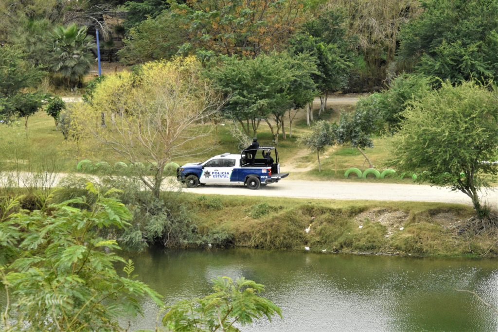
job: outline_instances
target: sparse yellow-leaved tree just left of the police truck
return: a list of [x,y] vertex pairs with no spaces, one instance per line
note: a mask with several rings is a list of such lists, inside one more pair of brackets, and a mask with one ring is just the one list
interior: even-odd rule
[[[79,128],[133,164],[147,162],[139,177],[159,198],[164,167],[175,158],[205,152],[212,126],[200,125],[218,111],[220,96],[202,76],[195,57],[142,65],[134,73],[108,75],[93,94],[92,106],[81,105]],[[102,113],[108,119],[101,125]],[[83,114],[83,115],[81,115]]]

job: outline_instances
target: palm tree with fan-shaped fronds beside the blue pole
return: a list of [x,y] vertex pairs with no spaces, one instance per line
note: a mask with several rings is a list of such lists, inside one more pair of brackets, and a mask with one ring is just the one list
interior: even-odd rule
[[94,39],[87,35],[86,26],[58,26],[48,38],[47,51],[51,54],[49,70],[54,75],[62,76],[68,87],[78,86],[95,61],[92,53],[95,47]]

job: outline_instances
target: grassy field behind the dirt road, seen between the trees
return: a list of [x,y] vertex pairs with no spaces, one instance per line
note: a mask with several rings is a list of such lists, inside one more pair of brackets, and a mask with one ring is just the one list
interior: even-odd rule
[[[315,120],[326,119],[337,121],[341,111],[354,111],[354,106],[337,105],[328,110],[322,116],[318,116],[315,110]],[[19,120],[10,125],[0,125],[0,169],[15,170],[50,170],[60,172],[75,172],[76,164],[82,159],[90,159],[93,162],[106,161],[114,164],[124,161],[114,151],[107,149],[97,141],[87,141],[75,144],[64,140],[60,131],[57,131],[53,119],[39,111],[29,118],[28,131],[24,130],[23,121]],[[237,153],[238,143],[232,137],[229,126],[231,123],[220,123],[213,130],[217,144],[209,152],[190,158],[174,160],[182,164],[192,161],[204,161],[207,158],[224,152]],[[350,167],[358,167],[361,170],[368,168],[365,158],[360,152],[350,146],[330,147],[322,156],[322,172],[318,172],[316,152],[308,150],[297,144],[297,138],[310,128],[306,125],[304,112],[298,115],[293,123],[293,136],[289,137],[287,124],[287,139],[280,137],[278,152],[282,171],[290,172],[294,179],[315,180],[346,180],[344,172]],[[26,137],[27,136],[27,137]],[[266,123],[261,122],[258,131],[260,144],[273,145],[272,136]],[[203,142],[201,142],[203,144]],[[205,142],[211,145],[211,142]],[[389,155],[388,138],[375,138],[374,148],[365,149],[374,166],[382,171],[384,163]],[[390,178],[384,180],[376,179],[349,179],[348,181],[384,181],[384,182],[411,182],[409,179],[400,180]]]

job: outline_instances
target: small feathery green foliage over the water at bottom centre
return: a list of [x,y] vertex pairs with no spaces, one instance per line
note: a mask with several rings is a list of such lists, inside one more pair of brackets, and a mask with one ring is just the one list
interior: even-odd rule
[[244,277],[235,282],[229,277],[213,280],[214,293],[184,300],[170,307],[162,322],[170,331],[239,331],[234,325],[249,325],[253,320],[278,315],[280,308],[259,296],[264,286]]

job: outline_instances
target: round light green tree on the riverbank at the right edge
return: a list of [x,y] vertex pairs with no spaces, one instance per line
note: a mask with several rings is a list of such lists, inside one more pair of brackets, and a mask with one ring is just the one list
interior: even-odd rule
[[498,103],[496,88],[476,82],[441,89],[413,101],[402,116],[392,164],[417,173],[418,182],[449,187],[472,199],[477,229],[496,227],[478,192],[498,174]]

